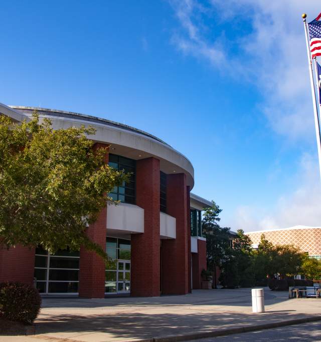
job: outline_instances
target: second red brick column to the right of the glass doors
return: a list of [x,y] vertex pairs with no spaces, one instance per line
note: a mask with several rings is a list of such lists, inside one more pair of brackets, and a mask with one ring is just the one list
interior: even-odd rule
[[176,218],[176,239],[162,241],[162,293],[189,291],[188,213],[185,174],[168,175],[167,213]]

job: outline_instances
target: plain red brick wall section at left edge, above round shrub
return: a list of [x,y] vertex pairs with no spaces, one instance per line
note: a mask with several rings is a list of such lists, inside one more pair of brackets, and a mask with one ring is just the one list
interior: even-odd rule
[[33,285],[34,271],[35,248],[0,246],[0,282],[19,281]]

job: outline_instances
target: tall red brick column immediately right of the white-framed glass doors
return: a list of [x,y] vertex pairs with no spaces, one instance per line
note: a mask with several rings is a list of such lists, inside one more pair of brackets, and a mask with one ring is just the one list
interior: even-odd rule
[[159,160],[136,162],[136,204],[144,209],[144,232],[131,234],[130,293],[160,294]]

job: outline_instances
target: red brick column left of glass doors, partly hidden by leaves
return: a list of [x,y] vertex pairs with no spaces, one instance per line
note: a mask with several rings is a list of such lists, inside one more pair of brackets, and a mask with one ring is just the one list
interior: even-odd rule
[[[108,145],[96,143],[94,149],[106,148],[105,163],[108,163]],[[90,224],[86,233],[88,237],[106,248],[107,207],[103,208],[97,221]],[[83,298],[104,298],[105,296],[105,262],[95,252],[80,248],[79,260],[79,296]]]

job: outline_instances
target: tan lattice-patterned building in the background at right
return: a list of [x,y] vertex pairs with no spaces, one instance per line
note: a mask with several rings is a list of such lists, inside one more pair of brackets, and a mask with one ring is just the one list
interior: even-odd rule
[[257,247],[261,235],[273,244],[294,244],[309,256],[321,259],[321,227],[294,226],[285,229],[268,229],[246,233]]

